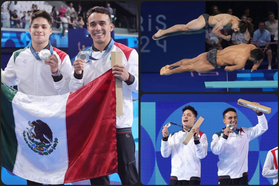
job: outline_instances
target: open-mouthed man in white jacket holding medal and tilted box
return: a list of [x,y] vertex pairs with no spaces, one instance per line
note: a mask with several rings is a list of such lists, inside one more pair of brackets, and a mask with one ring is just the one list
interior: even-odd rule
[[207,155],[207,138],[199,131],[199,128],[193,128],[193,138],[186,146],[182,144],[194,126],[197,116],[197,111],[191,106],[184,107],[182,111],[184,126],[181,131],[170,134],[168,137],[168,128],[164,126],[161,154],[164,158],[172,155],[170,185],[198,185],[200,184],[200,159]]

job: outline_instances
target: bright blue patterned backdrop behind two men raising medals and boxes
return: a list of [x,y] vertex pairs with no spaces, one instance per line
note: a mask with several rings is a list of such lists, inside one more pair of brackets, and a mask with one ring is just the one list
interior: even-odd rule
[[[221,131],[223,111],[232,107],[238,114],[238,128],[253,127],[258,123],[256,113],[237,104],[237,100],[256,101],[271,107],[271,113],[265,114],[268,131],[252,140],[249,144],[248,179],[249,184],[271,184],[271,178],[262,176],[262,167],[269,150],[278,146],[278,98],[276,95],[143,95],[141,97],[141,182],[143,184],[169,184],[171,156],[161,155],[162,129],[167,122],[181,123],[182,108],[193,106],[198,116],[205,120],[200,131],[207,135],[208,155],[201,160],[201,184],[218,184],[218,156],[210,149],[211,137]],[[181,128],[172,125],[169,132]],[[274,131],[274,132],[273,132]]]

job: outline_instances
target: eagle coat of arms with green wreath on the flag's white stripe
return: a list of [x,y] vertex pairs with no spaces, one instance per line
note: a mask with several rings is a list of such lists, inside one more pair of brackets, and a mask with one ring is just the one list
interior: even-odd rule
[[[29,129],[26,127],[28,131],[23,131],[22,133],[26,144],[32,151],[39,155],[50,155],[53,150],[55,150],[58,139],[54,138],[54,142],[52,143],[52,131],[49,126],[39,119],[32,123],[29,121],[28,125],[32,128]],[[27,138],[25,134],[27,135]]]

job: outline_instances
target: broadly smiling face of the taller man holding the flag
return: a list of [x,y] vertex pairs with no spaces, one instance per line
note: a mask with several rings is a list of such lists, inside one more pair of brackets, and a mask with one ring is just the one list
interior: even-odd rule
[[95,44],[108,44],[113,27],[107,14],[94,12],[88,17],[87,30]]

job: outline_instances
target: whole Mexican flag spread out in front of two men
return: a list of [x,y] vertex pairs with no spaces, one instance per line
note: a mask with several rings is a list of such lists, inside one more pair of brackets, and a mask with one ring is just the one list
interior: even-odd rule
[[116,173],[112,70],[77,91],[46,97],[1,82],[1,165],[44,184]]

